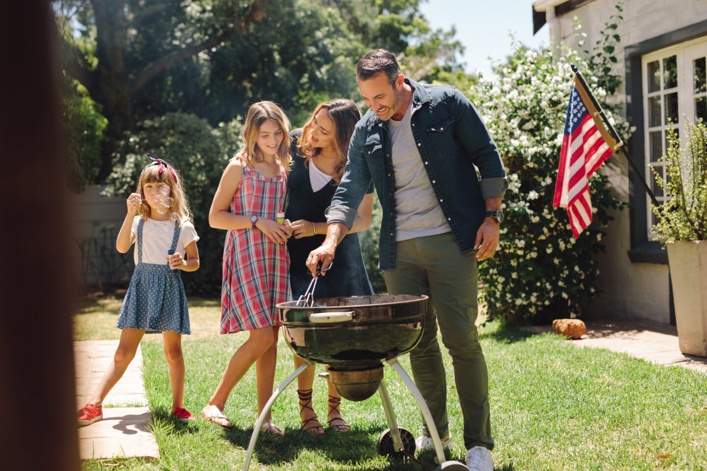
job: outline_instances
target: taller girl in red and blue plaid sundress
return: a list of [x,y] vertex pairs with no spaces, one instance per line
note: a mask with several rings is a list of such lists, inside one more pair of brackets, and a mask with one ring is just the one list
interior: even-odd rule
[[[283,210],[290,123],[273,102],[258,102],[248,109],[243,128],[245,146],[223,171],[209,224],[228,229],[223,249],[221,333],[249,330],[250,335],[231,357],[204,419],[226,429],[223,415],[230,391],[255,362],[258,413],[272,395],[277,358],[278,312],[275,305],[291,299],[288,255],[284,243],[292,229],[276,221]],[[230,208],[230,212],[229,212]],[[272,417],[262,429],[282,435]]]

